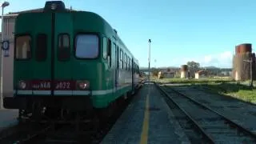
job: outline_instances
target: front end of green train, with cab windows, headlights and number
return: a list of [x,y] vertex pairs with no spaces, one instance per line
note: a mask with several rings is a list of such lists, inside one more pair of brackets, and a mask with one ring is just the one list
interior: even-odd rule
[[37,118],[94,109],[92,91],[103,88],[100,35],[97,27],[81,32],[76,15],[58,1],[46,2],[43,12],[18,15],[14,97],[4,99],[7,109]]

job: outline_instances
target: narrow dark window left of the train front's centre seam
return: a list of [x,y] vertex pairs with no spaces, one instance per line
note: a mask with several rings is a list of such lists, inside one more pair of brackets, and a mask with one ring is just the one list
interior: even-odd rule
[[38,34],[37,47],[35,50],[35,59],[39,62],[45,61],[47,56],[47,36]]

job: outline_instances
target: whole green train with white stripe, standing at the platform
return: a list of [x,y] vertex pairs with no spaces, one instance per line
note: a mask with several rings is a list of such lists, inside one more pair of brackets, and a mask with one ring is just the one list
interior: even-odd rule
[[4,106],[20,115],[107,109],[140,86],[138,60],[98,14],[46,2],[19,14],[14,34],[14,96]]

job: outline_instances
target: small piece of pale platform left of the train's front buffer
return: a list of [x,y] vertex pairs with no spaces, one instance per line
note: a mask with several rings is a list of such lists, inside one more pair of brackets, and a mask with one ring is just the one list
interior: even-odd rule
[[0,110],[0,131],[18,124],[18,110]]

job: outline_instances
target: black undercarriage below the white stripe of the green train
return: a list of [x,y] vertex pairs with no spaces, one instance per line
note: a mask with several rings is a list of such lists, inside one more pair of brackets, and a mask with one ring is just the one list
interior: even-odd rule
[[[130,93],[128,93],[130,95]],[[46,97],[31,96],[5,99],[12,102],[12,109],[19,110],[18,122],[54,122],[54,123],[104,123],[126,101],[119,97],[106,108],[94,108],[90,97]],[[10,105],[9,105],[10,106]],[[5,106],[8,108],[9,106]]]

